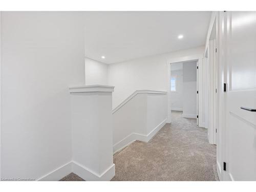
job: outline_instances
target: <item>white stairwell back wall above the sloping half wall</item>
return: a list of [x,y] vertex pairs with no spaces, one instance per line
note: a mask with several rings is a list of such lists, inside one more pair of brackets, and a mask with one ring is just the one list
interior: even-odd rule
[[166,63],[162,55],[109,66],[109,85],[115,86],[113,109],[136,90],[166,90]]

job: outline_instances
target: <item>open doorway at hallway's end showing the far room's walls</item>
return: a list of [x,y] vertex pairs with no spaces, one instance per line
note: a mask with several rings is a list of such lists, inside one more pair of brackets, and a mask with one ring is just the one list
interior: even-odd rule
[[171,110],[198,125],[198,60],[171,63],[170,71]]

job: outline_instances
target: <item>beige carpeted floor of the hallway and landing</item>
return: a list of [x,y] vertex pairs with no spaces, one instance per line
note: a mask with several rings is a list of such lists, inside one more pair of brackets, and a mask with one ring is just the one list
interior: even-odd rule
[[[166,124],[148,143],[135,141],[114,156],[112,181],[216,181],[216,145],[196,119],[172,111]],[[70,174],[62,181],[80,181]]]

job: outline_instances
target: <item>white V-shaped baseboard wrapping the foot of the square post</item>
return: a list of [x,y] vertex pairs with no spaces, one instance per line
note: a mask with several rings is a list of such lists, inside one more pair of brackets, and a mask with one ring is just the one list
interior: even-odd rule
[[110,181],[115,176],[115,164],[112,164],[101,175],[75,161],[72,162],[72,170],[74,174],[86,181]]

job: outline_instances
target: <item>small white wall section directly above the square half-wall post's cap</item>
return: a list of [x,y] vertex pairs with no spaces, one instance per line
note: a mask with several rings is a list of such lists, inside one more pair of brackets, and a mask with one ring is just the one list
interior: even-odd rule
[[87,86],[94,84],[108,84],[108,65],[90,58],[85,58],[84,63],[86,66]]

